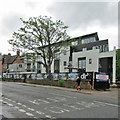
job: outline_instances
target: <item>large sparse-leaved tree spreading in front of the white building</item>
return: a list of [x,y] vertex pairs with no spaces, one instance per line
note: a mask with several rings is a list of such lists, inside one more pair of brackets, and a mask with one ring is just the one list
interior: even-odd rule
[[68,26],[61,20],[54,22],[47,16],[31,17],[27,21],[21,21],[23,27],[14,32],[8,42],[13,46],[13,50],[28,50],[40,55],[40,63],[49,73],[55,52],[69,39],[66,32]]

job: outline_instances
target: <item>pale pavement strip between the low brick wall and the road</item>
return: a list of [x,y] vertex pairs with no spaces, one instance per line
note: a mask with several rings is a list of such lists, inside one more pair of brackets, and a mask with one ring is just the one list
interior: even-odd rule
[[[120,96],[118,94],[118,93],[120,93],[120,89],[117,88],[117,87],[113,87],[113,86],[111,86],[110,89],[106,89],[106,90],[95,90],[95,89],[94,90],[87,90],[87,89],[76,90],[76,89],[73,89],[73,88],[65,88],[65,87],[58,87],[58,86],[37,85],[37,84],[18,83],[18,82],[13,82],[13,83],[23,85],[23,86],[53,88],[53,89],[62,90],[62,91],[69,91],[69,92],[76,92],[76,93],[81,93],[81,94],[107,97],[107,98],[116,99],[116,100],[120,99]],[[3,96],[2,93],[0,93],[0,96]]]

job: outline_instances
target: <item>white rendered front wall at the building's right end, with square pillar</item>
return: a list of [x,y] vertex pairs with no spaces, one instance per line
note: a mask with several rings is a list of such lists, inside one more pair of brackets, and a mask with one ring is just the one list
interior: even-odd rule
[[[78,59],[86,58],[86,72],[99,72],[99,59],[100,58],[109,58],[113,59],[113,76],[112,82],[115,83],[116,79],[116,49],[110,52],[99,53],[99,49],[84,51],[84,52],[76,52],[73,53],[73,61],[72,65],[74,67],[78,67]],[[89,60],[92,60],[91,64],[89,64]],[[73,72],[77,72],[77,70],[73,70]]]

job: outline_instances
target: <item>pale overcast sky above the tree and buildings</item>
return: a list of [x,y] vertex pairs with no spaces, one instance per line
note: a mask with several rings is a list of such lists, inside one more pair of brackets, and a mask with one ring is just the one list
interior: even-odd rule
[[8,54],[12,38],[23,24],[20,18],[52,17],[68,25],[68,35],[78,37],[97,32],[100,40],[109,40],[109,49],[118,48],[117,0],[3,0],[0,3],[0,53]]

